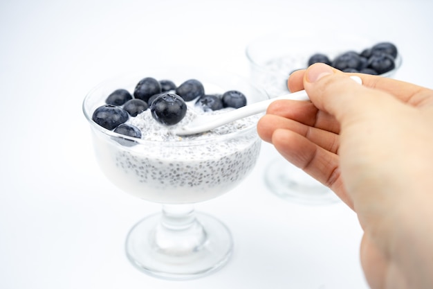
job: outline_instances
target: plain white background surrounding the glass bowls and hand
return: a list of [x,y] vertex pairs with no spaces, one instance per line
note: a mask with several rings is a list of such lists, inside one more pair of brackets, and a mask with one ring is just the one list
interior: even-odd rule
[[277,154],[266,143],[246,182],[196,205],[230,227],[230,263],[192,281],[139,272],[125,236],[160,206],[102,175],[82,99],[138,67],[248,76],[244,50],[255,37],[318,29],[395,42],[396,78],[433,87],[432,11],[427,0],[1,1],[0,288],[367,288],[356,215],[273,195],[263,175]]

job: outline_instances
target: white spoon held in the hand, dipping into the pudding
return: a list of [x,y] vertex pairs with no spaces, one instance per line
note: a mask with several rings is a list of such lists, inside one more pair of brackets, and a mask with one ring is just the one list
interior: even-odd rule
[[[358,76],[351,76],[351,78],[359,84],[362,84],[362,80]],[[270,103],[281,99],[310,100],[306,91],[300,90],[284,96],[277,96],[268,100],[259,101],[258,103],[239,107],[237,110],[231,110],[230,112],[225,112],[223,114],[198,114],[190,123],[174,130],[174,133],[177,135],[189,135],[198,134],[199,132],[207,132],[208,130],[212,130],[212,128],[218,128],[221,125],[231,123],[237,119],[243,119],[247,116],[265,112]]]

